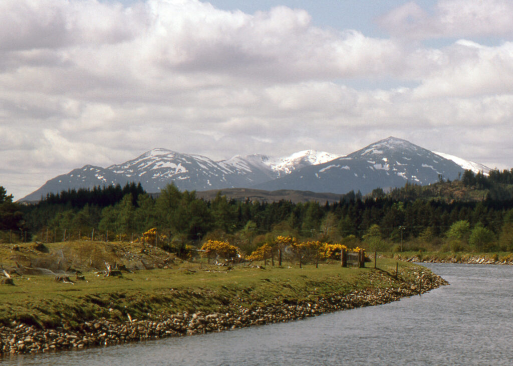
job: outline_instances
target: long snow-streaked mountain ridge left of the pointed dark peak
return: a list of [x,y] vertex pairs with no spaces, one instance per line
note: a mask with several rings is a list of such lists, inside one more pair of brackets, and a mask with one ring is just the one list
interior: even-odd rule
[[148,192],[159,192],[171,182],[182,190],[249,188],[308,164],[325,161],[329,156],[327,152],[307,150],[280,159],[255,154],[215,162],[201,155],[156,148],[107,168],[86,165],[73,169],[68,174],[49,180],[22,201],[36,201],[50,192],[71,188],[125,185],[128,182],[140,182]]

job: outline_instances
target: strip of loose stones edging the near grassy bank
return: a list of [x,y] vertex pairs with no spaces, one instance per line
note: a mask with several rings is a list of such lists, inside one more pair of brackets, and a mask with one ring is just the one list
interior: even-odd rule
[[[156,315],[151,320],[131,319],[120,323],[105,318],[88,321],[71,329],[40,329],[13,321],[0,327],[0,355],[35,354],[58,350],[84,349],[125,342],[221,332],[253,325],[285,322],[397,301],[448,284],[427,271],[415,272],[415,281],[393,281],[390,275],[374,272],[372,276],[388,281],[386,288],[369,288],[348,294],[332,294],[308,301],[283,301],[280,304],[254,306],[228,305],[219,313],[178,313]],[[374,277],[375,279],[378,279]],[[372,282],[372,281],[371,281]],[[419,291],[419,284],[421,285]]]

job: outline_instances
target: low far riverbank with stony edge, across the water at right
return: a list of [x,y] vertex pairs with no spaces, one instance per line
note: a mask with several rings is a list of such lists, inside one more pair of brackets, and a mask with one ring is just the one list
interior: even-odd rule
[[403,252],[383,253],[382,257],[416,263],[462,263],[462,264],[506,264],[513,265],[513,253],[439,253]]

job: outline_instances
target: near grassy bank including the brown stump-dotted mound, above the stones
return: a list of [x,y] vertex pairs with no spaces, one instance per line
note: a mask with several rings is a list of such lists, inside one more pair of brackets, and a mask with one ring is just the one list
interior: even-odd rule
[[[3,304],[0,323],[7,325],[18,320],[41,328],[63,324],[74,327],[100,317],[117,321],[125,321],[128,315],[151,319],[156,314],[213,312],[234,305],[251,308],[307,301],[370,287],[399,286],[402,282],[413,281],[420,269],[401,263],[399,281],[396,281],[391,276],[395,273],[396,261],[389,259],[378,262],[379,271],[341,268],[338,263],[321,264],[319,268],[314,265],[298,268],[291,263],[280,268],[267,265],[262,269],[254,265],[257,263],[227,268],[182,261],[160,249],[140,244],[55,243],[47,246],[47,253],[36,251],[34,246],[26,244],[12,249],[4,245],[0,248],[4,267],[25,266],[25,273],[29,272],[21,277],[13,275],[14,286],[0,286]],[[137,270],[137,265],[142,266],[141,256],[145,265],[154,269]],[[49,269],[58,272],[55,258],[61,267],[66,260],[66,268],[87,271],[83,272],[85,281],[70,276],[73,284],[56,282],[55,276],[31,275],[32,269],[27,269],[40,268],[27,267],[29,263],[53,263]],[[106,261],[122,264],[132,271],[104,277],[97,272],[105,269]],[[97,268],[87,265],[94,265],[94,262]],[[387,276],[376,276],[377,272]]]

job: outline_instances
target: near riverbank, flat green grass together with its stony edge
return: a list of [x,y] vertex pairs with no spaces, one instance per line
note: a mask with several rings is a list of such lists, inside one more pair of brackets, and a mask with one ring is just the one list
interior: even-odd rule
[[[190,264],[85,274],[57,283],[44,276],[0,287],[0,353],[40,353],[220,332],[378,305],[446,284],[428,269],[379,261],[379,269],[225,267]],[[420,280],[422,280],[420,282]],[[14,319],[14,320],[13,320]]]

